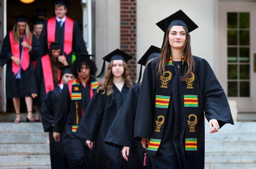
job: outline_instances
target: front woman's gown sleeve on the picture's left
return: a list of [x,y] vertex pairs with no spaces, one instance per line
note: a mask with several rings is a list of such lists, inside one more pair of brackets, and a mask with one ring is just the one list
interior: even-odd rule
[[155,112],[156,62],[157,59],[154,59],[147,65],[141,83],[134,125],[134,138],[137,141],[141,141],[141,137],[150,138],[152,134],[152,120]]

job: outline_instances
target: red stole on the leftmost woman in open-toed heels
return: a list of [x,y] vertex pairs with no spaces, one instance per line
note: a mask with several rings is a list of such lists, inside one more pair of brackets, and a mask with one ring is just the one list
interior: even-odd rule
[[[30,33],[30,46],[32,44],[32,33]],[[14,40],[13,40],[13,32],[10,31],[9,33],[9,36],[10,36],[10,44],[11,44],[11,53],[13,54],[13,56],[15,58],[19,58],[20,59],[20,44],[19,43],[16,43]],[[26,37],[26,34],[24,35],[24,42],[27,42],[27,37]],[[27,47],[24,47],[23,49],[23,55],[22,55],[22,61],[21,61],[21,67],[22,69],[25,71],[26,69],[28,69],[29,67],[29,60],[30,60],[30,56],[29,56],[29,53],[28,53],[28,48]],[[17,73],[19,72],[19,69],[20,69],[20,66],[16,65],[14,62],[13,62],[13,67],[12,67],[12,71],[15,75],[17,75]]]

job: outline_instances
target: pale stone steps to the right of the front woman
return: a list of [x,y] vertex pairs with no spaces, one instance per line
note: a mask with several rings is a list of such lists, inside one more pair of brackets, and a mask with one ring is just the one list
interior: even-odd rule
[[205,124],[204,169],[256,169],[256,122],[226,124],[209,133]]

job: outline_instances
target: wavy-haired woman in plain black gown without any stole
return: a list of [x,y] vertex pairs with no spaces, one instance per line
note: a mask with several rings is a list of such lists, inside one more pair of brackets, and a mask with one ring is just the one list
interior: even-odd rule
[[93,147],[93,142],[98,145],[98,169],[129,167],[129,163],[122,158],[121,150],[105,144],[104,139],[130,87],[133,85],[125,64],[131,58],[132,56],[119,49],[103,58],[102,72],[98,77],[104,75],[105,60],[109,62],[106,76],[87,106],[85,115],[76,131],[78,136],[87,139],[86,143],[89,148],[96,148]]

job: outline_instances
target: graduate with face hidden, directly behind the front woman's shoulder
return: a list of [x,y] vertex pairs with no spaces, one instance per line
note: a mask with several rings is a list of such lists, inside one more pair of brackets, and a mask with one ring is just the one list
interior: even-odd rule
[[[146,66],[148,62],[158,57],[160,48],[150,46],[147,52],[139,60],[138,64]],[[109,128],[108,134],[104,142],[113,147],[122,149],[122,156],[126,161],[128,158],[131,163],[132,169],[151,169],[150,157],[146,157],[145,149],[141,146],[141,143],[134,140],[134,121],[137,111],[137,104],[139,99],[139,91],[141,89],[141,71],[139,74],[138,84],[133,85],[124,103],[117,113],[115,120]],[[129,153],[129,150],[131,151]],[[145,160],[145,161],[144,161]]]

